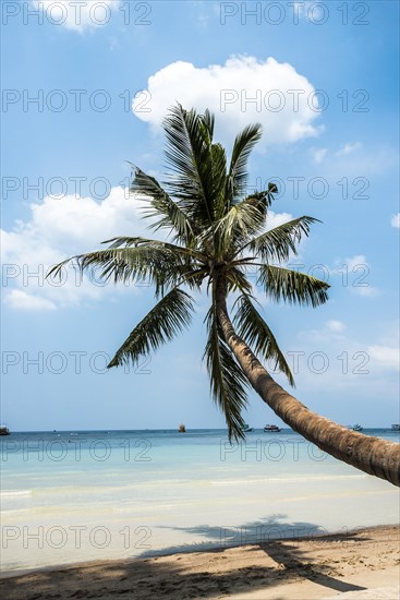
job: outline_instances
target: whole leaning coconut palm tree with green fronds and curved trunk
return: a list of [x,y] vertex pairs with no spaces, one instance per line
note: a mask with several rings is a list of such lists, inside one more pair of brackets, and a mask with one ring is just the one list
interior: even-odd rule
[[[277,301],[318,307],[327,301],[329,287],[282,266],[316,219],[302,216],[266,230],[276,185],[269,183],[267,190],[243,197],[247,159],[260,139],[260,125],[249,125],[237,136],[229,166],[223,147],[213,142],[214,116],[208,110],[197,115],[177,105],[163,129],[170,168],[167,181],[161,187],[134,167],[131,192],[146,201],[149,228],[167,230],[169,241],[119,237],[104,242],[109,243],[106,250],[69,259],[82,273],[100,268],[105,280],[145,279],[155,286],[156,305],[108,367],[136,363],[173,338],[191,321],[193,298],[189,291],[199,291],[206,284],[210,308],[205,319],[208,339],[204,357],[229,439],[244,436],[242,411],[250,384],[288,425],[320,449],[400,485],[400,444],[350,431],[311,411],[278,385],[260,362],[272,360],[294,384],[284,356],[255,305],[249,269],[257,271],[257,285]],[[52,267],[50,274],[60,273],[66,262]],[[235,297],[233,320],[227,308],[231,295]]]

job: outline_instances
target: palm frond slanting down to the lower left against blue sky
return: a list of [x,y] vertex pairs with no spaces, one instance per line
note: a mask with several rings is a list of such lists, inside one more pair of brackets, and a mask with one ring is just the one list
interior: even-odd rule
[[186,327],[192,311],[193,300],[189,293],[173,288],[136,325],[108,367],[119,367],[130,361],[137,363],[140,357],[157,350]]

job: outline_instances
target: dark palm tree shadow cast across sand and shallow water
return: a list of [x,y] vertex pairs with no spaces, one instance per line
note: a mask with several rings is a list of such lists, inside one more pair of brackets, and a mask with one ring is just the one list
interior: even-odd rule
[[[288,525],[279,520],[282,517],[276,515],[243,524],[239,528],[221,529],[206,525],[175,528],[207,539],[205,544],[208,548],[197,555],[195,563],[189,554],[181,554],[173,560],[168,555],[187,550],[203,551],[205,544],[171,547],[162,553],[148,551],[133,560],[36,571],[1,580],[0,593],[3,599],[10,600],[121,597],[130,600],[186,600],[259,591],[262,599],[263,590],[300,579],[318,584],[326,596],[336,591],[366,589],[339,579],[340,571],[329,560],[332,547],[336,550],[343,548],[346,554],[349,543],[352,548],[357,543],[367,543],[365,535],[360,537],[355,532],[322,537],[325,531],[318,526],[310,523]],[[301,543],[301,537],[307,538],[306,548]],[[214,540],[213,548],[209,540]],[[242,544],[252,544],[246,547],[244,560],[243,549],[235,550],[235,547]],[[278,599],[278,596],[275,598]]]

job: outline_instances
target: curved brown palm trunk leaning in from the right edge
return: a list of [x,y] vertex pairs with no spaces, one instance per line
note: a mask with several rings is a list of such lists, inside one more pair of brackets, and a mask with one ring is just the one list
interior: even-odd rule
[[226,302],[226,281],[216,283],[216,310],[225,339],[263,400],[294,431],[352,467],[400,485],[400,444],[349,430],[310,410],[278,385],[234,332]]

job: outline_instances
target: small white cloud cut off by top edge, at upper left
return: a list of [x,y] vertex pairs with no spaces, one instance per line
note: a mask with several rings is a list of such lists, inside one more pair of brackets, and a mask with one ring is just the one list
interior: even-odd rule
[[32,4],[45,13],[48,23],[82,32],[107,25],[121,0],[32,0]]

